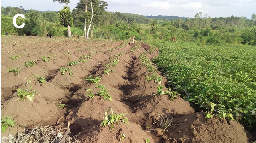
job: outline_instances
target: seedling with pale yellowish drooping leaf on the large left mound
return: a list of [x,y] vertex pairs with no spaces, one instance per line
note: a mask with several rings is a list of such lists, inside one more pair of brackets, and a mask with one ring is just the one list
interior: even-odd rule
[[27,98],[28,100],[33,102],[33,98],[34,98],[36,92],[38,92],[38,91],[36,91],[36,90],[33,91],[31,88],[32,88],[32,86],[30,86],[29,89],[16,89],[17,96],[19,96],[19,99],[17,99],[17,100],[25,101]]

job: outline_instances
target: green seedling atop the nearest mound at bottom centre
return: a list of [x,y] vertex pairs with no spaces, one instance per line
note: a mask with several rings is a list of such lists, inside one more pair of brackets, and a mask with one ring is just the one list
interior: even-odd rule
[[[109,111],[111,111],[111,114],[108,114]],[[128,119],[127,117],[122,118],[122,116],[126,116],[124,113],[121,114],[113,114],[113,110],[111,109],[107,109],[105,112],[105,117],[104,120],[101,122],[100,126],[101,127],[106,127],[107,125],[112,124],[111,129],[114,128],[114,123],[118,123],[119,121],[122,121],[124,123],[126,123],[127,125],[129,125]]]

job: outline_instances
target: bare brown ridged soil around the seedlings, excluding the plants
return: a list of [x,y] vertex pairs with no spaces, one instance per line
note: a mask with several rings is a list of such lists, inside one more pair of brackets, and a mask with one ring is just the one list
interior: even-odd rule
[[[124,134],[125,143],[248,143],[250,133],[235,121],[219,121],[205,119],[203,112],[195,113],[189,102],[178,97],[174,101],[167,95],[154,95],[158,83],[146,82],[148,74],[140,65],[139,54],[149,50],[149,45],[141,43],[141,48],[130,52],[134,45],[127,44],[116,48],[123,42],[111,43],[109,40],[87,40],[67,38],[44,38],[33,36],[10,36],[1,39],[1,113],[2,116],[12,116],[17,124],[2,133],[2,136],[23,131],[23,125],[33,128],[37,125],[57,125],[71,122],[70,136],[75,136],[81,143],[117,143]],[[91,48],[90,47],[96,47]],[[79,50],[80,49],[80,50]],[[113,52],[111,52],[111,49]],[[82,55],[90,52],[91,59],[86,63],[70,66],[73,77],[68,71],[65,75],[58,72],[70,61],[77,61]],[[110,62],[110,56],[122,52],[115,71],[104,74],[104,65]],[[49,62],[43,62],[42,56],[51,55]],[[21,55],[10,60],[10,56]],[[57,56],[55,60],[54,55]],[[148,54],[149,58],[156,53]],[[36,61],[36,66],[23,67],[28,60]],[[23,67],[15,75],[7,72],[12,67]],[[46,78],[45,83],[39,83],[32,75]],[[85,81],[85,77],[100,76],[98,84]],[[157,73],[161,76],[161,73]],[[31,83],[26,85],[29,80]],[[99,96],[89,98],[86,89],[97,92],[95,85],[104,85],[113,101],[104,100]],[[162,85],[167,85],[165,77]],[[15,89],[37,90],[33,102],[18,100]],[[166,89],[166,88],[165,88]],[[164,89],[164,90],[165,90]],[[67,107],[57,107],[64,103]],[[112,108],[115,113],[125,113],[129,125],[120,122],[110,126],[100,127],[106,109]],[[158,123],[163,119],[172,119],[171,127],[163,132]],[[150,125],[150,128],[148,128]],[[146,128],[146,126],[148,126]],[[158,128],[157,128],[158,127]],[[12,130],[12,131],[11,131]]]

